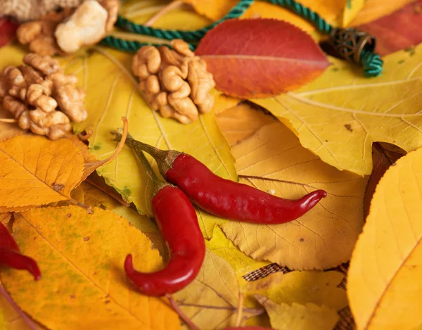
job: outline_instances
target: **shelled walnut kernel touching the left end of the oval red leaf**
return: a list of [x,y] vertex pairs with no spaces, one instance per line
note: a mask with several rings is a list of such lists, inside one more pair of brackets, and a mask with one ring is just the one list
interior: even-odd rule
[[186,42],[175,39],[171,45],[173,50],[167,46],[141,47],[132,70],[153,110],[188,124],[198,120],[198,113],[212,109],[210,90],[215,82],[205,61],[195,56]]

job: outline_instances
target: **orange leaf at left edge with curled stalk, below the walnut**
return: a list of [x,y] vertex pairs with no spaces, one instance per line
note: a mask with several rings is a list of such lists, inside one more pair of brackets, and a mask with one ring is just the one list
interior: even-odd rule
[[97,161],[75,137],[51,141],[26,134],[1,141],[0,212],[72,201],[70,191],[96,168],[113,160],[122,147],[120,144],[110,158]]

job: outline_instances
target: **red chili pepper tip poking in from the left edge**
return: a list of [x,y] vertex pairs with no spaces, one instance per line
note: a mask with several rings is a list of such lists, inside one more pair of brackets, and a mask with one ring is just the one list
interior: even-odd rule
[[15,269],[26,269],[33,276],[35,281],[41,279],[41,272],[37,262],[20,254],[18,244],[8,232],[4,224],[0,222],[0,265],[12,267]]

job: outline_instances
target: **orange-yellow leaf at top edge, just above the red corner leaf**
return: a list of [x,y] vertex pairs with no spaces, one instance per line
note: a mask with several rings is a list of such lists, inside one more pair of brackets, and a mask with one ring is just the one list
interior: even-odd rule
[[414,2],[414,0],[366,0],[357,16],[350,22],[350,26],[357,26],[377,20],[397,11],[399,8]]

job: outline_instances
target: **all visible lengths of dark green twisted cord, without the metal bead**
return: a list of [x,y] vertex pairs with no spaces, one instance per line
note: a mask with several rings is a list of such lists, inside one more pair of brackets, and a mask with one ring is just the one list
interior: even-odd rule
[[[226,16],[224,16],[224,18],[222,18],[221,20],[217,20],[211,25],[207,25],[202,29],[194,31],[155,29],[153,27],[146,27],[133,23],[130,20],[127,20],[126,18],[122,18],[122,16],[120,15],[117,17],[117,22],[115,25],[129,32],[145,34],[160,39],[183,39],[185,42],[199,42],[200,39],[202,39],[208,31],[210,31],[212,28],[219,25],[220,23],[224,22],[224,20],[228,20],[230,18],[238,18],[243,15],[243,13],[249,8],[253,1],[254,0],[239,1],[238,4],[234,8],[232,8]],[[318,15],[311,9],[302,6],[294,0],[265,1],[271,4],[275,4],[277,6],[286,7],[291,11],[294,11],[302,18],[305,18],[309,22],[313,23],[319,31],[325,34],[330,34],[331,30],[333,30],[333,27],[328,22],[326,22],[324,18],[321,18],[320,15]],[[120,51],[137,51],[139,48],[141,48],[141,46],[149,45],[148,43],[118,39],[111,36],[108,36],[101,40],[101,44],[111,46],[115,49],[119,49]],[[153,46],[158,45],[153,44]],[[189,48],[194,51],[196,49],[196,46],[193,46],[193,44],[189,44]],[[359,58],[359,63],[364,69],[365,77],[376,77],[378,75],[381,75],[381,73],[383,72],[383,61],[381,60],[381,56],[376,53],[373,53],[372,51],[369,51],[368,49],[364,49],[362,51],[361,56]]]

